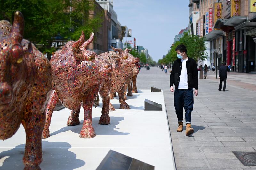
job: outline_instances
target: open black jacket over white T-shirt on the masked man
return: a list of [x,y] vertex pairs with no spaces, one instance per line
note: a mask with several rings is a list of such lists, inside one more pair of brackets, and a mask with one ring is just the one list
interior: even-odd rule
[[[192,58],[188,58],[186,61],[187,66],[187,74],[188,74],[188,89],[195,90],[198,89],[198,71],[197,71],[197,64],[196,61]],[[182,62],[181,59],[177,59],[174,61],[172,65],[172,71],[170,75],[170,86],[175,85],[175,88],[178,88],[180,82],[180,74],[182,69]]]

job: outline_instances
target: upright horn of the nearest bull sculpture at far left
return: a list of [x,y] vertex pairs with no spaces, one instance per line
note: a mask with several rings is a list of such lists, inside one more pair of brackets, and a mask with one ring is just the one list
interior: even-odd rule
[[9,36],[21,43],[24,35],[24,17],[20,11],[16,11],[12,30]]

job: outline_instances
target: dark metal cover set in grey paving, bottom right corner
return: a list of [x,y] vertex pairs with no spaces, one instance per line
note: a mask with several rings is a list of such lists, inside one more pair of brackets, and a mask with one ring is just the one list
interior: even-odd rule
[[247,166],[256,165],[256,152],[233,152],[236,157]]

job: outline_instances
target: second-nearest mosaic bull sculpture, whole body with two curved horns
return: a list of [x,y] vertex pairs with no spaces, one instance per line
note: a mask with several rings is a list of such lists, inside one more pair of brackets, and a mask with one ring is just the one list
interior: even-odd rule
[[[93,41],[93,35],[92,33],[91,37],[85,41],[84,32],[82,32],[78,41],[69,41],[52,56],[50,61],[52,94],[47,104],[43,138],[50,136],[49,126],[52,112],[59,99],[66,108],[72,110],[67,122],[70,126],[80,123],[78,116],[81,104],[83,104],[84,122],[79,136],[81,138],[96,136],[92,127],[93,101],[103,86],[104,80],[111,79],[112,66],[104,60],[99,60],[95,52],[86,50]],[[109,94],[109,91],[104,92]],[[101,120],[107,119],[110,123],[109,111],[106,107],[104,109]]]

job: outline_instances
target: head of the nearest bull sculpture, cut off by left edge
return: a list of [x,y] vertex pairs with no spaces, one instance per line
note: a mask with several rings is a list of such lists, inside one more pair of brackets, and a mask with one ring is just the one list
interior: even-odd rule
[[20,11],[15,12],[11,30],[8,21],[1,22],[0,30],[0,107],[8,107],[14,91],[19,89],[17,84],[22,79],[24,58],[32,54],[33,49],[30,42],[24,47],[21,44],[24,18]]

